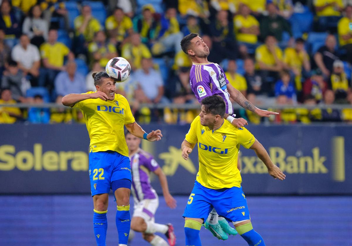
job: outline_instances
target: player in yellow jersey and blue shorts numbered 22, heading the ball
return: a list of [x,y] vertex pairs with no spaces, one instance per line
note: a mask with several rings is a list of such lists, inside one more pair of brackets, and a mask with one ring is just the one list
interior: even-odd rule
[[110,189],[116,203],[119,246],[127,246],[130,233],[131,167],[124,125],[134,136],[158,141],[160,130],[149,134],[137,124],[126,98],[115,94],[115,81],[105,71],[93,73],[96,92],[69,94],[62,104],[81,109],[90,138],[89,177],[93,196],[93,226],[97,245],[106,245],[107,207]]

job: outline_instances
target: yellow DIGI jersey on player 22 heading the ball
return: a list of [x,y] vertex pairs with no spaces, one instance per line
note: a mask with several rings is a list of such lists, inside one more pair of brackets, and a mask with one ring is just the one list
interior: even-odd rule
[[[83,94],[94,93],[88,91]],[[128,156],[124,125],[133,123],[134,117],[130,104],[120,94],[115,94],[114,101],[100,98],[86,99],[76,103],[73,108],[82,110],[90,138],[90,151],[112,150]]]

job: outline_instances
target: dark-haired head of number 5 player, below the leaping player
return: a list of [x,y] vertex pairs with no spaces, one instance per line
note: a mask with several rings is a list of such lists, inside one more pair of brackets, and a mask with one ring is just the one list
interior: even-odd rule
[[206,97],[202,100],[202,110],[199,114],[200,123],[205,127],[214,127],[224,119],[226,105],[224,99],[218,95]]

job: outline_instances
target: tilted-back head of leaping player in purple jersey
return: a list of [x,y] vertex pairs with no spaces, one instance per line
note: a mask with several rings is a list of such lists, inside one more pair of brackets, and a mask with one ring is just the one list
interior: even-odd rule
[[203,39],[197,33],[190,33],[181,40],[181,48],[191,57],[206,58],[210,51]]

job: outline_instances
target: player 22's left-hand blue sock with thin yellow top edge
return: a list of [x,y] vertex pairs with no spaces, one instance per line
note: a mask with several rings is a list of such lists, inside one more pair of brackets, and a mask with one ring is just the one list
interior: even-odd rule
[[96,211],[94,209],[93,227],[96,244],[98,246],[106,245],[106,230],[108,229],[108,220],[106,218],[107,212],[108,211]]

